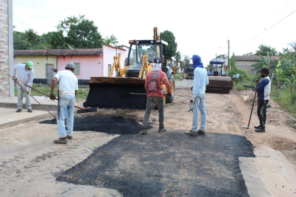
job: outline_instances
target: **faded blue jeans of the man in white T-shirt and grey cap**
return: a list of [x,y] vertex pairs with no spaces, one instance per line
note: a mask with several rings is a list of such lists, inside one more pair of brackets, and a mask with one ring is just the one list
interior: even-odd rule
[[[64,138],[67,135],[73,135],[74,125],[74,104],[75,97],[71,95],[65,95],[60,97],[60,119],[57,120],[58,133],[60,138]],[[65,129],[65,117],[67,115],[67,128]]]

